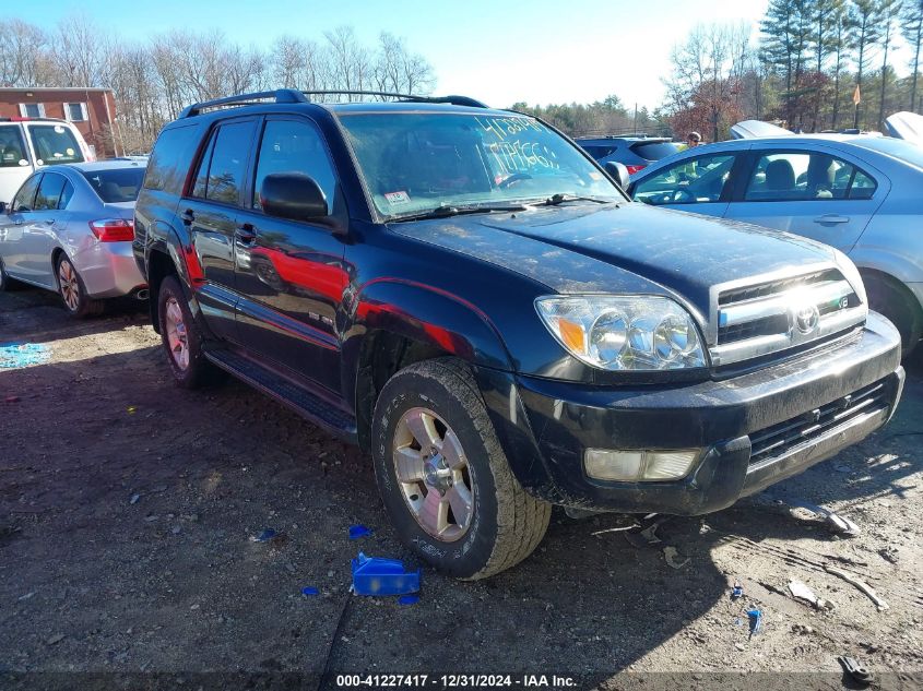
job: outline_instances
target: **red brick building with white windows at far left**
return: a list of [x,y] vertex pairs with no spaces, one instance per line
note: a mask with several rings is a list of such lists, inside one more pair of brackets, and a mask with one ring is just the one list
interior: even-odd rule
[[117,145],[116,99],[110,88],[0,87],[0,118],[61,118],[74,123],[96,156],[122,152]]

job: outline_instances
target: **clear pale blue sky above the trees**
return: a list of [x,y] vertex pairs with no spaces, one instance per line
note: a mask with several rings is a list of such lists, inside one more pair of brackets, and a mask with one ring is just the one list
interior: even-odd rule
[[[51,28],[75,8],[134,41],[174,28],[218,28],[244,45],[281,34],[321,39],[351,25],[367,45],[387,31],[436,70],[437,93],[493,106],[590,103],[616,94],[629,108],[663,97],[670,50],[697,23],[753,23],[767,0],[4,0],[7,16]],[[898,57],[900,59],[900,57]]]

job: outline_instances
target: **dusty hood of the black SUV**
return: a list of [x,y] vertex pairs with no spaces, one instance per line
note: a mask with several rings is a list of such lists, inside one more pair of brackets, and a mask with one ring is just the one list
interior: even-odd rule
[[833,263],[805,238],[640,203],[393,223],[400,235],[502,266],[552,291],[672,295],[709,311],[720,283]]

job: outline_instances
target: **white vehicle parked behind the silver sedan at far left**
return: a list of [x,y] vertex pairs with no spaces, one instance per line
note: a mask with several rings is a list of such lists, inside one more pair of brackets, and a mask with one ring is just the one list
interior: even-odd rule
[[42,166],[96,160],[72,123],[57,118],[0,119],[0,202],[12,201]]

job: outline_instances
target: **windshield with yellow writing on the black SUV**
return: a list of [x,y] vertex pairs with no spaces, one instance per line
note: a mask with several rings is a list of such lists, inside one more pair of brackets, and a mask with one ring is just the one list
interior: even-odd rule
[[339,114],[376,209],[400,217],[555,194],[624,201],[567,140],[524,116]]

